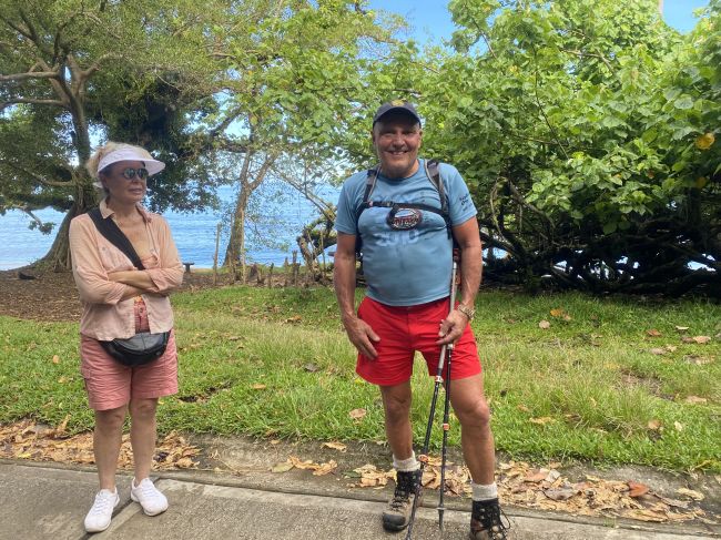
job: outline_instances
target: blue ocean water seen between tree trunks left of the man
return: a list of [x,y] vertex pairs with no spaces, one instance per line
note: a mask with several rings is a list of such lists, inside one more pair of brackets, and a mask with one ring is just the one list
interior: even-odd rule
[[[222,189],[219,194],[225,205],[222,210],[196,214],[163,213],[170,224],[181,261],[193,262],[197,268],[213,266],[217,224],[223,222],[224,210],[227,211],[226,205],[234,198],[230,187]],[[337,190],[329,190],[324,196],[335,201]],[[317,216],[317,211],[307,200],[287,190],[258,194],[252,200],[252,212],[255,218],[246,225],[247,261],[276,265],[283,264],[286,257],[292,259],[292,252],[297,249],[295,237],[303,225]],[[41,210],[35,214],[43,222],[55,223],[51,234],[28,228],[31,220],[20,211],[10,211],[0,216],[0,269],[30,264],[42,257],[52,245],[63,214],[52,208]],[[223,263],[227,233],[227,227],[223,227],[219,264]],[[302,259],[299,253],[298,259]]]

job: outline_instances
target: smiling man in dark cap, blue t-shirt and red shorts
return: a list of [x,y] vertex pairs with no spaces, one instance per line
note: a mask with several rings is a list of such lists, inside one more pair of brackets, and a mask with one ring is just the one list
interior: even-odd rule
[[[418,159],[423,131],[410,103],[397,100],[382,105],[373,119],[372,139],[379,170],[356,173],[341,192],[334,281],[343,325],[358,350],[356,371],[378,385],[383,398],[397,476],[383,524],[389,531],[408,526],[420,480],[410,429],[414,354],[419,350],[429,374],[436,375],[440,347],[455,343],[450,400],[460,421],[461,447],[473,477],[470,538],[502,540],[507,527],[500,519],[494,481],[490,411],[468,325],[481,275],[476,208],[458,171],[444,163],[439,165],[447,197],[444,216],[441,190],[429,179],[425,160]],[[364,200],[368,201],[365,205]],[[398,204],[384,206],[384,202]],[[453,310],[449,233],[460,248],[463,275],[460,302]],[[367,293],[356,315],[357,238],[363,246]]]

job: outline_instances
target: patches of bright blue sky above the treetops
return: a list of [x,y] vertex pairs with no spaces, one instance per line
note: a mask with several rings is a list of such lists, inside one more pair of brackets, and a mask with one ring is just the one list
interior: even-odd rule
[[[450,38],[454,31],[445,0],[370,0],[369,4],[404,16],[413,27],[409,37],[418,41],[439,41]],[[697,21],[693,11],[708,4],[708,0],[663,0],[663,19],[677,30],[688,32]]]

